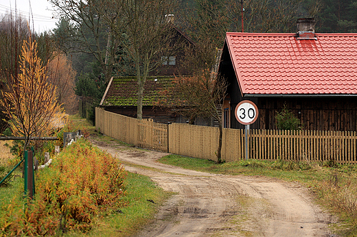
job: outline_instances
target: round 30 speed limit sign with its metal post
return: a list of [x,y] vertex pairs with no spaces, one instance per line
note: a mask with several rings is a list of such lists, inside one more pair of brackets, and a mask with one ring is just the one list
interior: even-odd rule
[[254,123],[258,117],[258,108],[252,101],[240,101],[235,107],[235,118],[245,125],[245,158],[249,158],[249,125]]

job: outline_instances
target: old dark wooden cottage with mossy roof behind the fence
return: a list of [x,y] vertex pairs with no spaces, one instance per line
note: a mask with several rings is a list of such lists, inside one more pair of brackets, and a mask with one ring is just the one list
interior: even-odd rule
[[[172,20],[171,20],[172,21]],[[168,55],[157,59],[158,66],[150,72],[143,91],[143,118],[152,118],[159,123],[185,123],[176,111],[168,106],[157,106],[164,96],[163,91],[171,90],[175,75],[187,75],[183,66],[185,50],[194,49],[194,43],[173,24],[172,41]],[[104,110],[137,117],[137,81],[133,77],[112,77],[100,106]]]

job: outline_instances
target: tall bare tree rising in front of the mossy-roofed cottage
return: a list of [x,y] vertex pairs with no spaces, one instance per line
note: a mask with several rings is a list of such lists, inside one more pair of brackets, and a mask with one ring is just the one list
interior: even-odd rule
[[174,8],[173,0],[119,0],[111,14],[113,38],[119,40],[135,64],[137,78],[137,118],[141,119],[143,90],[150,71],[162,64],[162,56],[170,56],[172,25],[165,19]]

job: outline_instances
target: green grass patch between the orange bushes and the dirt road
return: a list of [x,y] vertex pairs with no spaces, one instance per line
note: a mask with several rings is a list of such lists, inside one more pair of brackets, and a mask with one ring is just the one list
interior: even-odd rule
[[125,181],[128,205],[97,220],[97,227],[87,234],[72,232],[65,236],[131,236],[150,223],[160,205],[172,193],[157,187],[149,177],[128,173]]

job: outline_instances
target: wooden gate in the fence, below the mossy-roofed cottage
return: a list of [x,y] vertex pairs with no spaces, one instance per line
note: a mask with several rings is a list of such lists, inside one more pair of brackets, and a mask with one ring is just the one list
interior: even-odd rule
[[152,119],[139,120],[139,147],[168,152],[168,125]]

